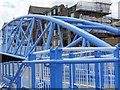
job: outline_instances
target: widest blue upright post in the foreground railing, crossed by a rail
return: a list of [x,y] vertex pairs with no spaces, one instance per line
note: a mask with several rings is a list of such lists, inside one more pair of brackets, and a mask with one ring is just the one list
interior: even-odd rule
[[[62,49],[51,48],[50,49],[50,60],[61,60]],[[62,88],[62,64],[50,64],[50,88]]]

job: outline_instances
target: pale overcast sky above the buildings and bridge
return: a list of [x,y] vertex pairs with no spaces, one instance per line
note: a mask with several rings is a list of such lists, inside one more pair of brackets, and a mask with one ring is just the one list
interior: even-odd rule
[[[76,4],[80,0],[0,0],[0,29],[4,22],[9,22],[13,17],[26,15],[30,5],[40,7],[52,7],[55,4],[67,4],[69,6]],[[90,0],[85,0],[90,1]],[[118,1],[111,0],[112,15],[118,17]]]

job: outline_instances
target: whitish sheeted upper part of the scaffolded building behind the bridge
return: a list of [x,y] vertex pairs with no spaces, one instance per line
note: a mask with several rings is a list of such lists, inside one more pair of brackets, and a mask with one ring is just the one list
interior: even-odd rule
[[110,6],[110,0],[93,0],[92,2],[79,1],[76,6],[76,11],[81,9],[91,12],[110,13]]

